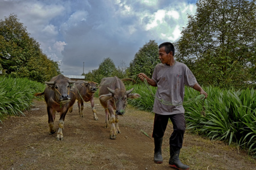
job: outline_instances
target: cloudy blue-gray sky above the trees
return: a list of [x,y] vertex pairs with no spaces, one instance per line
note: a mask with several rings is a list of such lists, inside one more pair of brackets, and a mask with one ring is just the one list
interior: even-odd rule
[[108,57],[129,66],[150,40],[179,40],[195,13],[195,0],[0,0],[0,19],[17,15],[64,75],[98,69]]

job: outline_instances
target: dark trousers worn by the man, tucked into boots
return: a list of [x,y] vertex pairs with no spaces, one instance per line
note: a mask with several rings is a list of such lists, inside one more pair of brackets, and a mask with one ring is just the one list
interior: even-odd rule
[[163,137],[169,118],[171,119],[174,128],[174,132],[171,134],[170,137],[170,146],[181,148],[186,127],[184,113],[171,115],[161,115],[155,113],[152,137]]

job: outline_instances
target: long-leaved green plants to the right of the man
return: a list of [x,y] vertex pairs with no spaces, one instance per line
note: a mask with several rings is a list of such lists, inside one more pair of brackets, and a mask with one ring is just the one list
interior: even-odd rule
[[[192,90],[188,90],[193,94]],[[185,108],[188,129],[207,135],[211,139],[236,142],[238,146],[247,146],[249,152],[256,150],[256,91],[220,90],[205,88],[208,98],[205,100],[206,116],[201,116],[201,104],[192,104]]]

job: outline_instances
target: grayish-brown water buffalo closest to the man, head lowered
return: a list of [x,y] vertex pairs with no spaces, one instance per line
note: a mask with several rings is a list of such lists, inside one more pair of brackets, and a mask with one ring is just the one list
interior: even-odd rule
[[125,114],[127,98],[137,99],[141,97],[139,94],[131,94],[131,91],[133,88],[126,91],[125,84],[116,76],[101,80],[98,95],[101,105],[105,108],[105,128],[108,128],[109,123],[111,124],[110,139],[115,139],[117,133],[121,133],[118,127],[118,115]]

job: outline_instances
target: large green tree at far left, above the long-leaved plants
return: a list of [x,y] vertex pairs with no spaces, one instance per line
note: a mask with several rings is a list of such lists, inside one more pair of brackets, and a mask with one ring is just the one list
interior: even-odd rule
[[57,62],[42,53],[40,44],[13,14],[0,20],[0,64],[4,73],[38,82],[60,74]]

